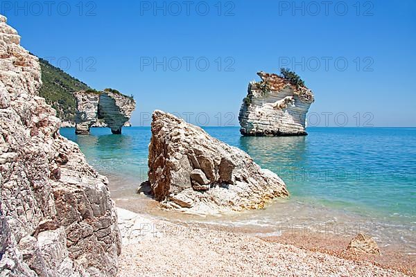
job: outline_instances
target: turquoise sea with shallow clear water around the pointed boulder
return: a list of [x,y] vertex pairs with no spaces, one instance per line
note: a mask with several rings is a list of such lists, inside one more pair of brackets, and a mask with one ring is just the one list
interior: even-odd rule
[[[381,247],[395,245],[416,255],[416,128],[310,127],[309,136],[243,137],[239,127],[205,127],[211,136],[248,152],[277,173],[291,197],[267,208],[221,217],[200,217],[148,208],[137,195],[147,177],[150,127],[107,128],[76,136],[87,161],[110,179],[117,205],[172,220],[232,224],[257,235],[317,232],[370,233]],[[416,256],[415,256],[416,258]]]

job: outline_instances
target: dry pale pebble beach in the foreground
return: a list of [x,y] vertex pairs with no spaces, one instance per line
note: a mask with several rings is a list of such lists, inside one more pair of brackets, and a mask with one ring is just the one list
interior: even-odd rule
[[119,209],[119,277],[407,276],[369,262],[336,258],[232,229],[207,229]]

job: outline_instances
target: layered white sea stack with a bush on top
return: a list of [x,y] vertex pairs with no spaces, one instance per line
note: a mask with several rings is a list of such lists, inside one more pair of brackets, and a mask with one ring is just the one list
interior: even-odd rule
[[314,101],[312,91],[297,87],[277,74],[259,72],[261,82],[250,82],[240,109],[245,136],[306,135],[306,113]]

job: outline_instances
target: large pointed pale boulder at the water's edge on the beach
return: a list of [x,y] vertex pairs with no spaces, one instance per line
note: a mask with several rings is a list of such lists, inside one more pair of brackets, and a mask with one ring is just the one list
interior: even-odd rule
[[196,213],[263,208],[288,195],[281,179],[200,127],[163,111],[153,113],[148,178],[167,208]]

